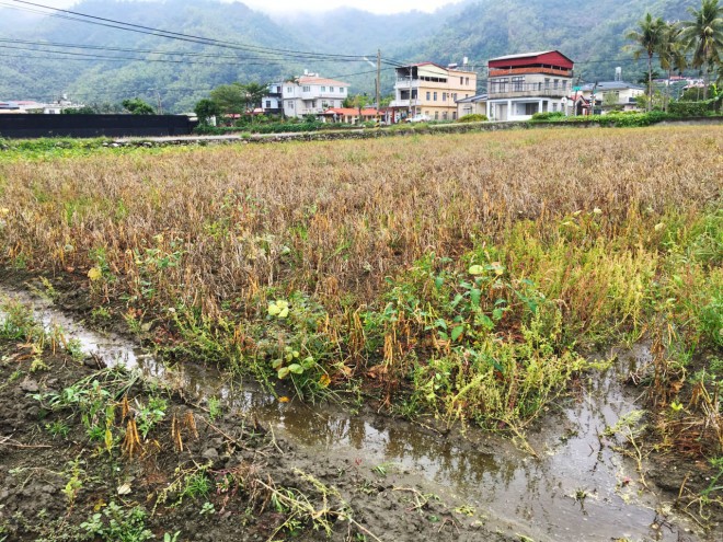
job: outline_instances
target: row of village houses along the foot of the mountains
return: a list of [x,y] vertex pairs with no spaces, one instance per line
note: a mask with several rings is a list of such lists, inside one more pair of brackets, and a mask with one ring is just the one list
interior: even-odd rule
[[[248,114],[285,118],[312,116],[324,123],[359,124],[380,119],[397,124],[412,119],[457,120],[477,114],[490,120],[507,122],[527,120],[537,113],[575,116],[644,108],[638,99],[644,96],[645,88],[626,81],[620,68],[609,81],[577,84],[574,61],[558,50],[491,58],[489,68],[486,80],[478,79],[467,59],[461,66],[444,67],[424,61],[395,68],[393,94],[389,105],[382,107],[349,106],[354,94],[348,82],[306,70],[298,78],[268,84],[266,95],[255,107],[249,108]],[[702,87],[700,79],[681,76],[656,79],[655,83],[664,88],[677,85],[678,92]],[[480,87],[487,92],[479,93]],[[60,114],[83,107],[64,95],[49,104],[27,100],[0,102],[0,114]],[[228,115],[218,122],[233,118]]]

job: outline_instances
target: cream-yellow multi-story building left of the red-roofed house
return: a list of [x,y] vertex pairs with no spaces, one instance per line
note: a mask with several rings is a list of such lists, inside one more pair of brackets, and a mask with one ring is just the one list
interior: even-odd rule
[[421,62],[397,68],[394,100],[389,107],[392,122],[415,115],[432,120],[455,120],[457,100],[477,94],[477,73],[457,65],[447,68],[433,62]]

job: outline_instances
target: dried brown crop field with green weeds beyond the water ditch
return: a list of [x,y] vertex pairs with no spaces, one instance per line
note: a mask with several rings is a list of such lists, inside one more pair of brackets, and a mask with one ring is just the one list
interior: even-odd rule
[[611,342],[652,341],[661,405],[702,359],[713,401],[722,157],[719,127],[8,153],[1,257],[170,357],[518,433]]

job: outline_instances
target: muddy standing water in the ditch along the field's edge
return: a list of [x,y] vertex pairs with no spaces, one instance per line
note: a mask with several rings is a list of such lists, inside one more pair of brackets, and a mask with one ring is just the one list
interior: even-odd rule
[[[169,369],[131,343],[92,333],[42,299],[3,290],[31,302],[45,325],[60,325],[83,350],[107,365],[138,368],[181,385],[198,397],[222,397],[297,446],[319,454],[349,458],[352,464],[385,465],[421,478],[433,491],[467,505],[481,520],[535,541],[705,540],[689,531],[652,492],[643,491],[635,465],[615,450],[606,427],[636,410],[621,376],[650,358],[643,346],[620,351],[617,365],[584,382],[575,397],[551,412],[530,438],[540,459],[473,429],[445,438],[417,425],[381,416],[352,416],[334,406],[280,403],[254,384],[230,385],[211,370],[188,365]],[[650,485],[650,483],[649,483]],[[654,488],[653,488],[654,489]]]

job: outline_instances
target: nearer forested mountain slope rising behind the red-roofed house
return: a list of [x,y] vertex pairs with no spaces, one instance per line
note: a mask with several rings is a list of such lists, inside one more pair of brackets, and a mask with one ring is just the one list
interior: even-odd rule
[[400,48],[400,56],[434,58],[440,64],[468,56],[484,73],[489,58],[517,51],[559,49],[575,61],[583,81],[610,80],[615,67],[638,79],[644,61],[631,61],[623,50],[626,34],[645,12],[667,21],[688,18],[689,5],[700,0],[479,0],[450,16],[444,27],[418,50]]

